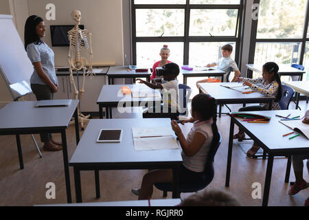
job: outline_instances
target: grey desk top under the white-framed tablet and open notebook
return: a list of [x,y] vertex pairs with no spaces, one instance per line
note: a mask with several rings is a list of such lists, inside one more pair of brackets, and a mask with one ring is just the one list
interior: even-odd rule
[[[149,126],[169,126],[172,129],[170,118],[90,120],[69,165],[122,166],[126,168],[128,165],[181,164],[183,161],[181,149],[135,151],[132,127]],[[122,142],[97,143],[100,129],[122,129]]]

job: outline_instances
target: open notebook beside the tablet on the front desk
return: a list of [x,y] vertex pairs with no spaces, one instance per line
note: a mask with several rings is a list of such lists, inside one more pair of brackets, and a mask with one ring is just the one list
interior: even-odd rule
[[136,151],[151,151],[179,148],[172,129],[168,126],[132,128]]

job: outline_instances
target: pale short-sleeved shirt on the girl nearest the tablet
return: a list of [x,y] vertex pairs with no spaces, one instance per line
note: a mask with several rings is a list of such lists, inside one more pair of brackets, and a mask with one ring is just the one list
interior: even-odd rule
[[213,133],[211,129],[212,122],[212,119],[203,122],[194,122],[191,131],[187,134],[187,142],[191,144],[196,132],[204,135],[206,137],[206,140],[201,146],[200,150],[192,157],[186,156],[185,153],[181,151],[181,157],[183,157],[183,166],[185,166],[185,168],[198,173],[204,171],[207,155],[209,153],[213,138]]

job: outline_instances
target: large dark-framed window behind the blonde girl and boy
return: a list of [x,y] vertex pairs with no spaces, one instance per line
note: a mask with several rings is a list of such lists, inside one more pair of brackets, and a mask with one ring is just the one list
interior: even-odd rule
[[166,44],[179,66],[205,65],[218,61],[222,45],[231,43],[240,67],[244,0],[131,2],[133,64],[152,67]]

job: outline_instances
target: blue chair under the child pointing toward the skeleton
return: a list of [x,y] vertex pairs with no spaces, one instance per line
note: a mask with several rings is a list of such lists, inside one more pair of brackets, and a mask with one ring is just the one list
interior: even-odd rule
[[[181,109],[179,109],[179,113],[155,113],[155,109],[153,113],[148,113],[148,110],[146,110],[143,113],[143,118],[172,118],[176,120],[177,116],[179,115],[187,116],[187,102],[189,101],[192,89],[189,86],[183,84],[179,84],[178,89],[179,101],[182,104]],[[161,109],[163,109],[163,104],[161,104]]]

